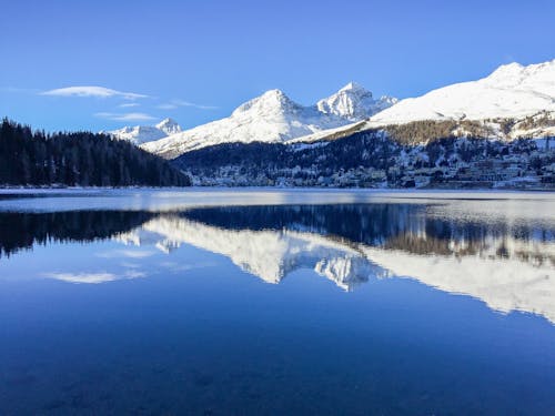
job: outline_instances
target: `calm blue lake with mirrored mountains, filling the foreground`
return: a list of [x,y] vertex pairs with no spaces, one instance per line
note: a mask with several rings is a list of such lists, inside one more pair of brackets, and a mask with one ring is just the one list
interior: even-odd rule
[[555,195],[0,194],[0,415],[555,415]]

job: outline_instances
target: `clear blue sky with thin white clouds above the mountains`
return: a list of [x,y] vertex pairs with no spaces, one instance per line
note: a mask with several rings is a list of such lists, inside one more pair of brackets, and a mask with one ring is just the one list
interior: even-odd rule
[[[553,0],[6,1],[0,115],[191,128],[273,88],[303,104],[349,81],[414,97],[554,59],[554,17]],[[44,93],[83,85],[102,89]]]

